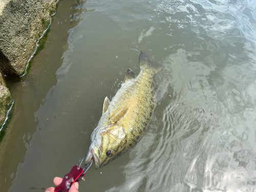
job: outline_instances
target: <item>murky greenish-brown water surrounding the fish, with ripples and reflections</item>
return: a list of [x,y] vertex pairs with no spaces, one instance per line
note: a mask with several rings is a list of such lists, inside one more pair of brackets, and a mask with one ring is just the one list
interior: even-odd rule
[[105,96],[143,50],[165,69],[132,150],[79,191],[256,190],[256,2],[68,1],[25,79],[0,146],[2,191],[44,191],[87,154]]

